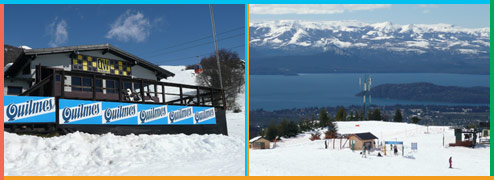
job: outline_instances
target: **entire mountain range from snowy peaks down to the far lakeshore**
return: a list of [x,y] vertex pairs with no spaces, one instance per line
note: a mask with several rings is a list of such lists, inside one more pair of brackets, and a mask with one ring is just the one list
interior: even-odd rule
[[254,22],[251,74],[489,74],[490,28],[360,21]]

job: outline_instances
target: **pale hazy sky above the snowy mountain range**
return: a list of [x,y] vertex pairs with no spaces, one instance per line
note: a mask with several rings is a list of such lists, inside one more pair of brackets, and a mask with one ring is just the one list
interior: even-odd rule
[[[269,5],[256,11],[251,6],[250,20],[359,20],[366,23],[390,21],[394,24],[453,24],[467,28],[484,28],[490,26],[489,4],[393,4],[393,5],[356,5],[344,7],[321,5],[283,8],[280,5]],[[366,7],[367,6],[367,7]],[[275,8],[279,9],[275,9]]]

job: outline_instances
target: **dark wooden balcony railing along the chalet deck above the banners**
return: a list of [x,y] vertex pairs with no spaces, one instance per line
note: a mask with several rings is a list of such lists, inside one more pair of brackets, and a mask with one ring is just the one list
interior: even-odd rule
[[[49,71],[46,73],[47,70],[44,70],[45,77],[39,78],[35,85],[21,95],[226,108],[224,91],[217,88],[94,72]],[[41,73],[37,74],[41,76]]]

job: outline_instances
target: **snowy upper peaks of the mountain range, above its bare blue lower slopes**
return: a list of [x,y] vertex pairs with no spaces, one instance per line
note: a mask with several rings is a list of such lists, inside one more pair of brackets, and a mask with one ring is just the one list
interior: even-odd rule
[[359,21],[265,21],[250,24],[250,46],[270,49],[386,49],[409,53],[489,53],[490,28],[450,24],[368,24]]

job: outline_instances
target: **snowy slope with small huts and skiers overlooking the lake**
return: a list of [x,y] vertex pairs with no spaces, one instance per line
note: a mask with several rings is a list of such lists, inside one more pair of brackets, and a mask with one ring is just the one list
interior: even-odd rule
[[[357,126],[358,125],[358,126]],[[277,142],[274,149],[249,150],[249,175],[467,175],[488,176],[490,172],[489,146],[476,149],[465,147],[443,147],[454,142],[454,132],[448,127],[425,127],[406,123],[380,121],[339,122],[338,132],[371,132],[382,141],[403,141],[405,156],[389,152],[377,157],[377,152],[367,158],[360,151],[340,149],[339,140],[333,149],[324,148],[323,140],[310,141],[310,133]],[[322,135],[324,137],[324,134]],[[345,144],[343,139],[342,144]],[[412,142],[418,143],[418,150],[411,152]],[[453,169],[448,159],[453,157]]]

